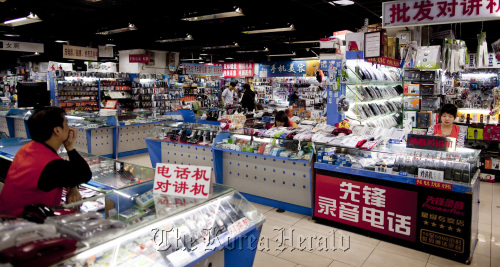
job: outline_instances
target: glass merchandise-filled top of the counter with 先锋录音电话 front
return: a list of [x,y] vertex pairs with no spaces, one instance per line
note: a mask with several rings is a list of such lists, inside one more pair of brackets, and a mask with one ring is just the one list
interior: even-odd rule
[[[479,172],[480,150],[441,152],[389,144],[372,150],[317,146],[317,163],[469,186]],[[389,176],[388,176],[389,177]]]

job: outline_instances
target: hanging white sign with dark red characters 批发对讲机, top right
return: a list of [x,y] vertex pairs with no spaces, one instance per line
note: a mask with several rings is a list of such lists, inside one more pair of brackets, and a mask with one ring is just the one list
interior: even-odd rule
[[500,0],[402,0],[382,10],[384,28],[498,20]]

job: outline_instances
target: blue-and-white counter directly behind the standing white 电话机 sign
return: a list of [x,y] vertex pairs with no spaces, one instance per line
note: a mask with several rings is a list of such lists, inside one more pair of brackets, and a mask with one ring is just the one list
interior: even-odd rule
[[156,126],[146,138],[151,164],[213,167],[212,146],[218,125],[174,122]]

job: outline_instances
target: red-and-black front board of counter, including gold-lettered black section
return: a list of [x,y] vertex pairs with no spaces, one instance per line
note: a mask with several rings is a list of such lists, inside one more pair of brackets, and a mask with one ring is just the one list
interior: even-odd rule
[[471,233],[477,231],[472,205],[478,209],[478,191],[473,201],[473,194],[319,169],[314,219],[466,262],[477,238]]

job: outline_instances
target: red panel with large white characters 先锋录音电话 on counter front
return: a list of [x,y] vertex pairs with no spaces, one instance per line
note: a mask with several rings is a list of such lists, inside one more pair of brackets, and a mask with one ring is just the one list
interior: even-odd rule
[[318,174],[314,216],[415,242],[417,192]]

